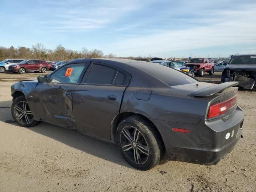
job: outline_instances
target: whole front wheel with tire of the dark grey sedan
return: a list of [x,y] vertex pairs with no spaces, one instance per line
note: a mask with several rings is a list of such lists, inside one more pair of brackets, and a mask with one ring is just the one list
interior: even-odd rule
[[24,96],[17,97],[12,102],[11,109],[12,109],[12,117],[20,126],[32,127],[38,124],[38,121],[34,120],[34,116]]

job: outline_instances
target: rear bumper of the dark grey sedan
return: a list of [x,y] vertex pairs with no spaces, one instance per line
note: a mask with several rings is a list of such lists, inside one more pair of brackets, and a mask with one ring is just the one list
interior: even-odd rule
[[[217,164],[236,145],[242,135],[244,112],[240,107],[227,121],[200,120],[197,125],[152,120],[158,128],[169,160],[199,164]],[[172,128],[189,129],[190,133]],[[232,134],[233,132],[233,134]],[[230,136],[226,139],[226,135]]]

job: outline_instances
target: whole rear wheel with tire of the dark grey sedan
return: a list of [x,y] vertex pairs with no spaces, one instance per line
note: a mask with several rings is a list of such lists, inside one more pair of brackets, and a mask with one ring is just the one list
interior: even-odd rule
[[139,170],[149,170],[162,157],[162,144],[154,127],[139,116],[130,116],[120,122],[116,140],[126,161]]

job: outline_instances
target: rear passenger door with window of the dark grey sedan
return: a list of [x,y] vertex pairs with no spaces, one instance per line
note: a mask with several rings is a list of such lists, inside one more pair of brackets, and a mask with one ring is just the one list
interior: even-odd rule
[[76,128],[83,134],[110,140],[110,125],[119,114],[130,74],[93,62],[73,97]]

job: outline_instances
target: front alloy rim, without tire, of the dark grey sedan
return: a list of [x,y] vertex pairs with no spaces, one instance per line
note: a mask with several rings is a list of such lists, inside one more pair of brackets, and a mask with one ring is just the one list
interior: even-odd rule
[[34,120],[34,116],[26,101],[20,101],[14,106],[14,115],[22,124],[30,124]]

